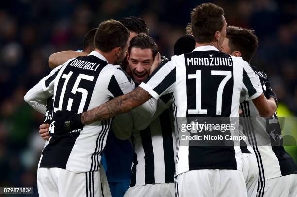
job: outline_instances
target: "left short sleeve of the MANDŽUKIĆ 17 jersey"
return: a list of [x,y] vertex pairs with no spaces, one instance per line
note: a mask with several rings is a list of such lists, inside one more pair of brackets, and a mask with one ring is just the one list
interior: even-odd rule
[[162,63],[139,87],[143,88],[155,99],[159,99],[161,95],[173,93],[175,82],[175,63],[174,60],[169,59]]

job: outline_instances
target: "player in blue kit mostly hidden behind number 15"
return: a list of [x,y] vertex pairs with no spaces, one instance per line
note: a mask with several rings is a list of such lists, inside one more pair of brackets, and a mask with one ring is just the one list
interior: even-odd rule
[[[129,40],[138,34],[148,34],[146,23],[139,17],[129,16],[120,20],[120,22],[129,30]],[[88,38],[89,38],[88,34]],[[87,43],[90,43],[90,39]],[[54,53],[49,57],[51,68],[59,66],[70,58],[88,55],[88,51],[83,50],[82,53],[77,51],[62,51]],[[130,69],[127,66],[127,58],[121,62],[121,67],[127,73]],[[157,64],[156,64],[157,65]],[[114,121],[115,122],[115,121]],[[48,135],[48,125],[41,125],[42,135]],[[49,135],[48,135],[49,137]],[[109,132],[106,147],[102,152],[102,162],[107,169],[108,182],[113,196],[123,196],[130,184],[131,164],[133,159],[132,146],[128,140],[119,140],[113,132]],[[100,169],[101,170],[101,169]]]

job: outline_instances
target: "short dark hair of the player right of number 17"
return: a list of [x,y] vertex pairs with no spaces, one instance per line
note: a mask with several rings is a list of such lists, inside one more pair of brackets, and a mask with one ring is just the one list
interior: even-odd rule
[[250,62],[259,46],[255,31],[235,26],[228,26],[226,31],[231,52],[240,51],[242,59]]

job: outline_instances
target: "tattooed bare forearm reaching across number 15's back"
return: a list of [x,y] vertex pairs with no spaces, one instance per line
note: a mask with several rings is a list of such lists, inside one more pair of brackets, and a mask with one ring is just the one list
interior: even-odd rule
[[82,124],[91,124],[95,121],[109,119],[140,106],[150,98],[151,95],[147,91],[138,87],[128,94],[116,97],[101,106],[82,113],[81,122]]

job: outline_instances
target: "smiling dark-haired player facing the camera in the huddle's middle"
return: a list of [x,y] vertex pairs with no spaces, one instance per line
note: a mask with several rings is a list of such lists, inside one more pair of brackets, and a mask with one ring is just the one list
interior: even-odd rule
[[[158,59],[158,47],[154,40],[146,35],[138,35],[130,41],[128,49],[128,67],[136,85],[144,81],[152,67],[154,57]],[[132,133],[125,134],[121,128],[127,122],[117,125],[117,137],[131,137],[134,158],[130,188],[125,197],[173,197],[174,190],[174,130],[171,97],[165,95],[158,100],[155,115],[141,118],[141,114],[132,113]],[[115,128],[113,127],[114,132]]]

